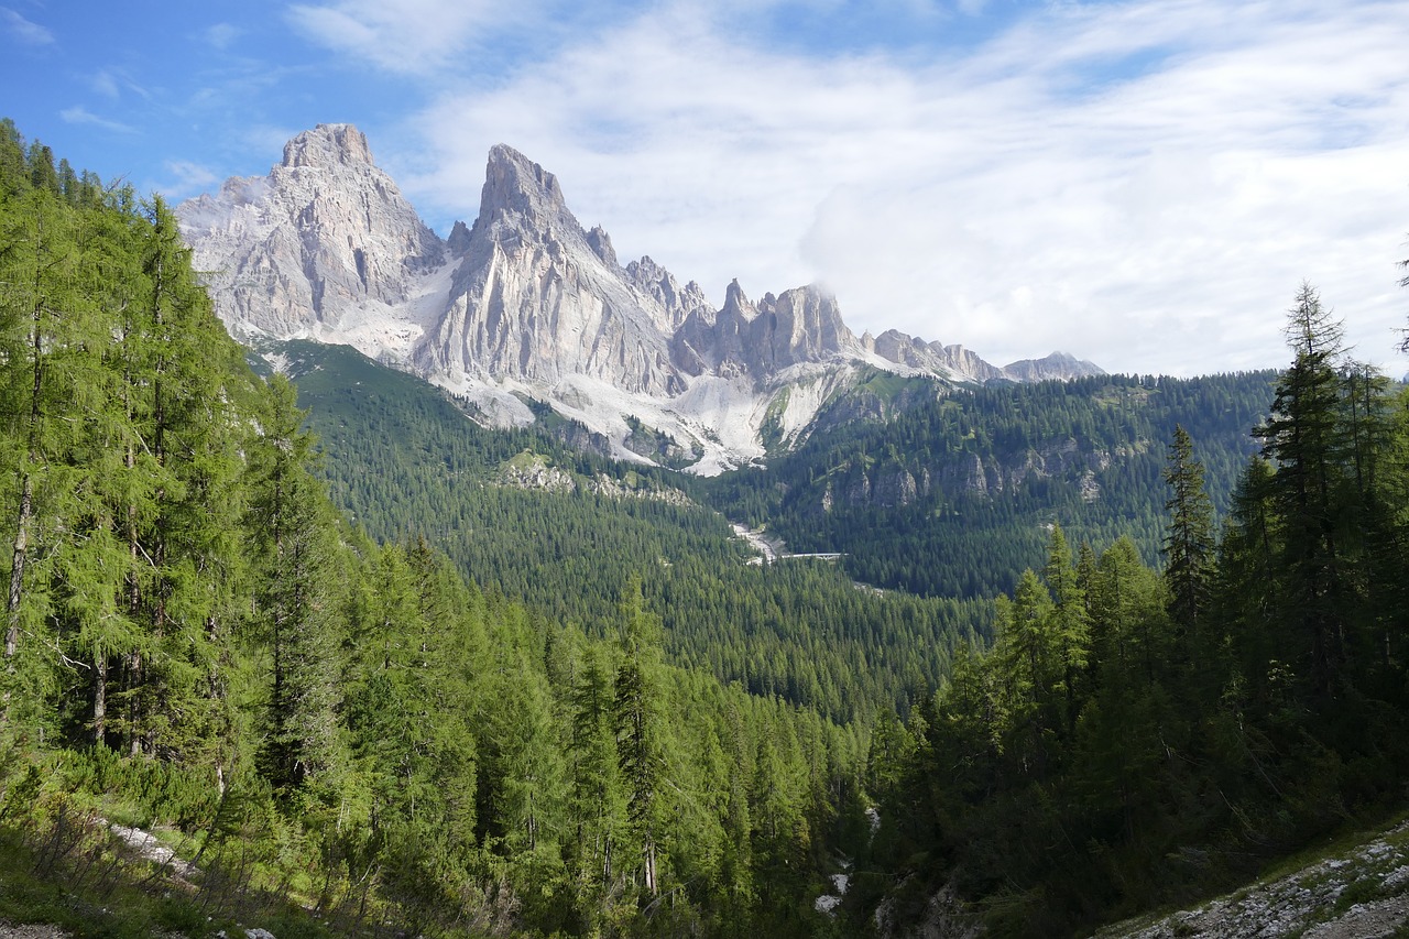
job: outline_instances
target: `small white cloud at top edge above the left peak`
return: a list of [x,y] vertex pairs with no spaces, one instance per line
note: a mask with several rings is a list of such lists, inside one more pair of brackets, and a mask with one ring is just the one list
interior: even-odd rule
[[431,73],[462,55],[478,31],[533,16],[534,0],[337,0],[293,4],[287,18],[334,51],[399,73]]

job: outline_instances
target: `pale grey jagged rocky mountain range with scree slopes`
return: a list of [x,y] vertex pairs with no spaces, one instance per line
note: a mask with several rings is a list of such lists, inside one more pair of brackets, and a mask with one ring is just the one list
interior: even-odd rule
[[178,214],[217,313],[247,343],[348,344],[486,423],[531,423],[528,402],[545,402],[617,457],[671,453],[706,475],[761,460],[765,437],[805,437],[875,368],[975,385],[1102,374],[1064,354],[999,368],[893,330],[857,337],[814,285],[754,302],[735,281],[714,309],[648,257],[621,266],[558,179],[506,145],[489,152],[478,219],[445,240],[348,124],[299,134],[268,176]]

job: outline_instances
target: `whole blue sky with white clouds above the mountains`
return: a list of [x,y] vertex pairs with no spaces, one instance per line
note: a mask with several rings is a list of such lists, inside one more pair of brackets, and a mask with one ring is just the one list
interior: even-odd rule
[[1113,372],[1409,327],[1403,0],[0,0],[0,116],[180,200],[352,123],[440,234],[509,144],[723,303]]

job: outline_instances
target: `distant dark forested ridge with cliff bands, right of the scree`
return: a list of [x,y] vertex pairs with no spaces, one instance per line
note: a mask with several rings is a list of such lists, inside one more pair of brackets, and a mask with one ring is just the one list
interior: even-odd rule
[[1154,563],[1162,444],[1175,426],[1199,440],[1208,495],[1226,512],[1274,381],[1109,375],[941,389],[872,379],[830,402],[793,453],[699,493],[733,519],[766,523],[795,551],[843,553],[858,581],[991,598],[1041,565],[1054,522],[1092,544],[1129,536]]

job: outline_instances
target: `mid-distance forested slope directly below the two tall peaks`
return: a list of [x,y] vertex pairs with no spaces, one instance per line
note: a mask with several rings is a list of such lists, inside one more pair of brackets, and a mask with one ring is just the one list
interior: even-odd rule
[[[991,634],[986,599],[861,589],[820,561],[748,564],[728,523],[675,488],[693,489],[690,478],[531,429],[485,430],[424,382],[349,350],[294,343],[283,354],[335,501],[373,536],[424,537],[465,577],[552,620],[613,636],[620,591],[640,577],[669,661],[833,719],[909,706],[937,687],[955,643]],[[535,465],[572,488],[504,482]]]

